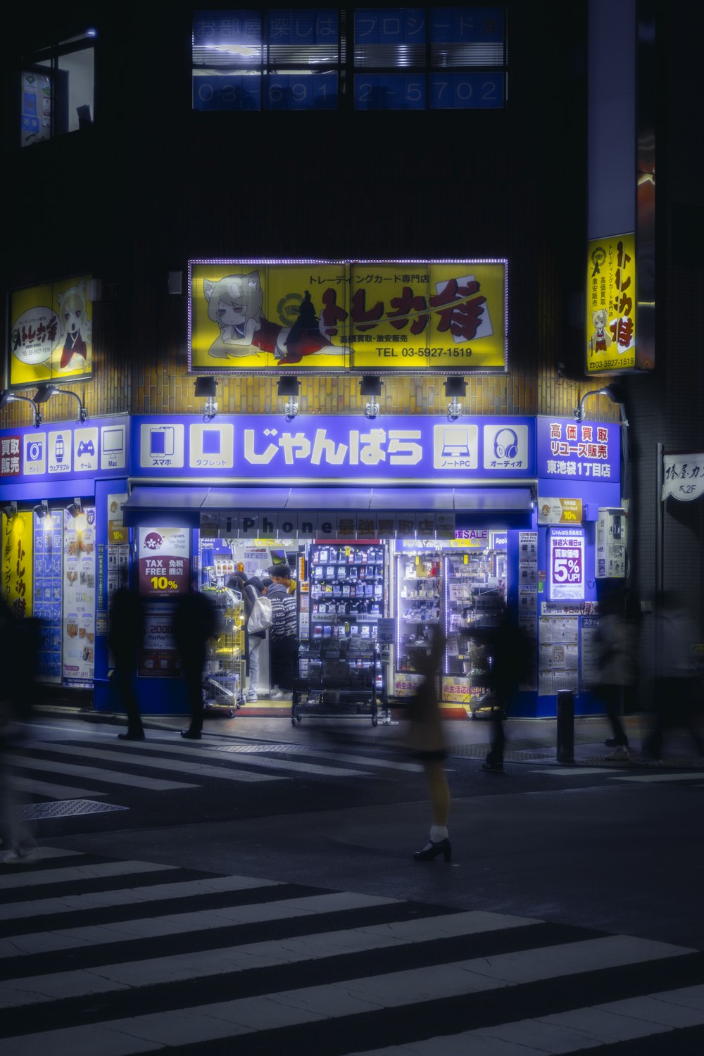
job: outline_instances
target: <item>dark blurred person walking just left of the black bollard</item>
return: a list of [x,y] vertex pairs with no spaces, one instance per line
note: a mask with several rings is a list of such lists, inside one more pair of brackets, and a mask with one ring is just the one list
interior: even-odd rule
[[527,677],[532,654],[531,640],[509,619],[503,599],[498,606],[487,610],[487,622],[472,624],[469,635],[482,647],[483,687],[490,693],[492,733],[489,752],[481,769],[489,773],[503,773],[506,732],[503,720],[519,682]]

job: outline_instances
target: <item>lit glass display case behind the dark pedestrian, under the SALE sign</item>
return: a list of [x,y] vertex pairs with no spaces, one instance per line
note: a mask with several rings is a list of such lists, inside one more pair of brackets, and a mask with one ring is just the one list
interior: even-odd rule
[[474,717],[491,711],[488,674],[492,658],[472,637],[478,627],[498,626],[506,608],[506,553],[490,547],[445,554],[443,612],[446,637],[442,698],[470,708]]

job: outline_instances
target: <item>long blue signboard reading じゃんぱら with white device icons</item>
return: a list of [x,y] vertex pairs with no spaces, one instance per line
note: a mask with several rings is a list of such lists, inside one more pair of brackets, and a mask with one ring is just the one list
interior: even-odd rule
[[[192,419],[149,416],[131,420],[138,476],[183,476],[207,470],[212,477],[261,484],[279,479],[384,479],[425,477],[439,483],[474,478],[515,479],[534,473],[535,419],[515,415],[450,422],[425,415],[298,415],[292,421],[268,415],[218,415],[199,427]],[[208,451],[204,466],[203,453]],[[402,534],[399,531],[399,534]]]

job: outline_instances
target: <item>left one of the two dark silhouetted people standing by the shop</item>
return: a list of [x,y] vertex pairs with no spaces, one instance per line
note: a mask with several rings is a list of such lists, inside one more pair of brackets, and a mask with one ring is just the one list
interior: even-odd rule
[[127,568],[120,569],[120,585],[110,604],[108,645],[113,655],[113,682],[127,715],[127,733],[121,740],[144,740],[145,728],[135,692],[135,677],[145,634],[145,609],[136,590],[131,590]]

